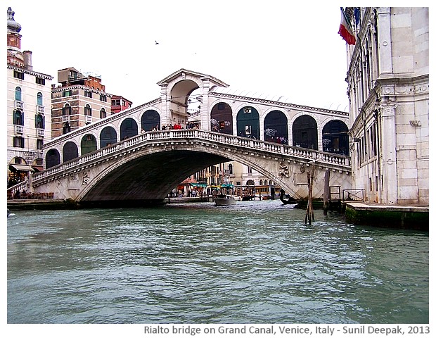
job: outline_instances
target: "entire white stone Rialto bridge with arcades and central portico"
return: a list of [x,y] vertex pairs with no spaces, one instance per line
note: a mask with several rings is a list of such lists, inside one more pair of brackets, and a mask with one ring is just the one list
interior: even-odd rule
[[158,85],[158,99],[44,144],[46,169],[12,192],[31,184],[57,199],[132,205],[163,199],[186,177],[227,161],[254,168],[297,199],[307,196],[311,167],[314,197],[323,194],[326,170],[331,186],[351,188],[348,113],[235,92],[184,69]]

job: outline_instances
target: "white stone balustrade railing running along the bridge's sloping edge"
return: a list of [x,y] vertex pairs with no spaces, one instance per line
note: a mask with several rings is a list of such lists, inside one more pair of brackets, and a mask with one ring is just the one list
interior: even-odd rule
[[[129,149],[138,144],[143,144],[148,141],[167,140],[167,139],[204,139],[220,144],[229,144],[233,146],[240,146],[247,150],[259,149],[267,151],[271,154],[283,154],[295,156],[299,158],[307,158],[310,161],[317,161],[321,163],[331,163],[342,167],[350,166],[350,158],[348,156],[323,153],[312,149],[304,149],[297,146],[288,146],[286,144],[276,144],[273,142],[264,142],[258,139],[250,139],[248,137],[234,136],[229,134],[222,134],[219,132],[208,132],[205,130],[196,129],[182,129],[182,130],[158,130],[153,132],[144,132],[142,134],[124,139],[121,142],[111,146],[105,146],[91,153],[85,154],[79,158],[53,166],[39,173],[32,174],[32,180],[44,180],[45,177],[50,177],[58,173],[63,173],[70,168],[77,168],[79,165],[91,163],[99,158],[106,157],[111,154],[117,154],[123,149]],[[20,182],[14,187],[8,189],[8,192],[16,192],[17,190],[25,189],[27,181]]]

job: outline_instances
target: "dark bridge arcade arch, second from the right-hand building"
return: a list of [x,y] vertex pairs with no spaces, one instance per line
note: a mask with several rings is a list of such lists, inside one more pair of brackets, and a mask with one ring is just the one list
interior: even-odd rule
[[293,146],[318,150],[318,125],[310,115],[301,115],[293,123]]

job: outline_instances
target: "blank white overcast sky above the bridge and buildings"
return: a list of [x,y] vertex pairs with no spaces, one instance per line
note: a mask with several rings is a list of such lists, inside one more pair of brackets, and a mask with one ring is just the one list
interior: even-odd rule
[[[340,7],[294,1],[8,0],[33,69],[75,67],[101,75],[106,92],[134,106],[156,82],[185,68],[234,89],[348,111]],[[6,13],[5,13],[6,17]],[[158,42],[159,44],[155,44]]]

